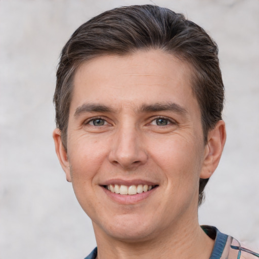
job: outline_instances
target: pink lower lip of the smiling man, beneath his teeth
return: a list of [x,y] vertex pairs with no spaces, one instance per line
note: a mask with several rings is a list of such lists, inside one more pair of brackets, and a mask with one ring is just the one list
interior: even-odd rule
[[112,199],[113,201],[120,203],[120,204],[136,204],[141,202],[142,200],[145,200],[148,198],[152,193],[157,189],[157,187],[151,189],[147,192],[137,193],[134,195],[124,195],[124,194],[117,194],[113,193],[104,187],[102,187],[104,192],[107,194],[107,196]]

